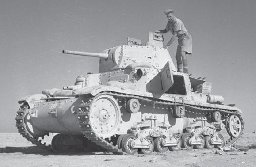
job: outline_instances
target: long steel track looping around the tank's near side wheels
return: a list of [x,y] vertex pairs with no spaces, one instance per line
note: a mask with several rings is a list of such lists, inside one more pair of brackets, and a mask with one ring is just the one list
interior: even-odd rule
[[[129,98],[136,98],[139,99],[141,104],[149,104],[152,103],[157,104],[157,105],[161,105],[161,107],[163,108],[169,108],[170,105],[174,105],[174,102],[170,102],[170,101],[165,101],[165,100],[159,100],[159,99],[154,99],[154,98],[146,98],[143,96],[136,96],[136,95],[128,95],[128,94],[121,94],[121,93],[114,93],[114,92],[103,92],[100,93],[98,95],[110,95],[113,96],[115,99],[129,99]],[[115,154],[125,154],[122,152],[122,150],[118,149],[117,147],[115,147],[112,143],[107,142],[105,139],[96,136],[96,134],[93,132],[93,130],[91,129],[91,122],[90,122],[90,109],[91,109],[91,101],[94,97],[88,97],[88,98],[84,98],[82,99],[83,103],[80,105],[80,112],[78,113],[78,124],[81,128],[81,132],[85,135],[86,138],[88,138],[89,140],[91,140],[92,142],[94,142],[95,144],[99,145],[100,147],[102,147],[103,149],[106,149],[108,152],[113,152]],[[181,105],[181,104],[180,104]],[[218,108],[210,108],[210,107],[198,107],[198,106],[192,106],[192,105],[186,105],[185,104],[185,108],[186,111],[191,111],[191,112],[210,112],[210,111],[220,111],[223,115],[229,115],[229,114],[235,114],[237,115],[242,123],[242,130],[241,133],[238,137],[230,137],[229,139],[227,139],[225,145],[229,146],[234,144],[235,142],[237,142],[239,140],[239,138],[242,136],[243,132],[244,132],[244,121],[243,118],[241,116],[241,114],[238,111],[235,110],[224,110],[224,109],[218,109]],[[83,117],[83,119],[81,119]],[[85,119],[84,119],[85,118]]]

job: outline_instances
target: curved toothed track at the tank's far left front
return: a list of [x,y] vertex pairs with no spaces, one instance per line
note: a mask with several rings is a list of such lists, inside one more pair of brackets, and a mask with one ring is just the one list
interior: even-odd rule
[[16,120],[16,127],[18,129],[18,133],[20,133],[32,144],[37,145],[38,148],[48,149],[48,147],[46,146],[46,143],[43,144],[42,140],[38,140],[38,137],[34,137],[28,132],[26,124],[24,122],[24,118],[27,114],[27,111],[28,111],[28,105],[24,104],[16,112],[15,120]]

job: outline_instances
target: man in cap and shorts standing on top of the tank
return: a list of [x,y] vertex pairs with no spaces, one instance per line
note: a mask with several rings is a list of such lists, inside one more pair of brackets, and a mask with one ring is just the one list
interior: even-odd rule
[[167,9],[164,13],[168,18],[166,28],[164,30],[156,30],[155,33],[167,33],[169,31],[172,33],[171,39],[165,46],[166,49],[168,49],[172,42],[178,37],[179,45],[176,50],[178,72],[188,73],[187,55],[192,54],[192,37],[183,22],[174,16],[173,10]]

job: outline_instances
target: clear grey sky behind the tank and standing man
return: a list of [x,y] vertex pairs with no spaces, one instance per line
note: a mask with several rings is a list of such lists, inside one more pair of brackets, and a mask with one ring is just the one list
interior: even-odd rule
[[[13,1],[0,5],[0,132],[17,132],[18,100],[44,89],[73,85],[78,75],[97,73],[95,57],[63,49],[99,52],[164,29],[174,10],[193,39],[189,73],[206,77],[212,94],[243,112],[245,132],[256,130],[256,1]],[[165,43],[171,34],[164,34]],[[169,47],[175,64],[176,41]]]

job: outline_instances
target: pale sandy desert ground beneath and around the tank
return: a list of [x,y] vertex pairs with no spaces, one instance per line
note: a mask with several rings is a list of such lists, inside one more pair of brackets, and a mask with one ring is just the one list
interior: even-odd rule
[[[51,137],[45,138],[47,144]],[[256,134],[244,134],[237,143],[256,143]],[[256,149],[216,154],[218,149],[113,155],[108,152],[55,153],[38,149],[18,133],[0,133],[0,166],[256,166]]]

